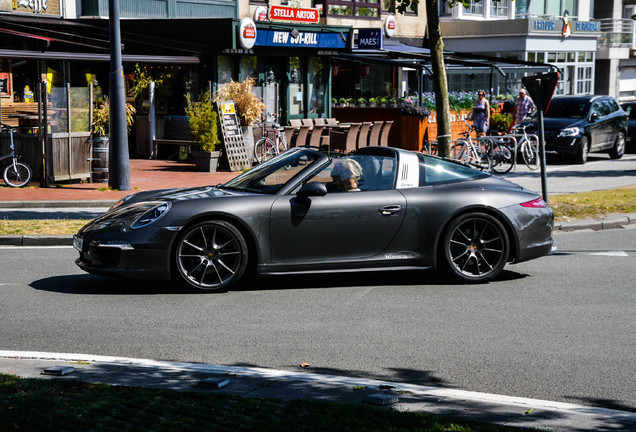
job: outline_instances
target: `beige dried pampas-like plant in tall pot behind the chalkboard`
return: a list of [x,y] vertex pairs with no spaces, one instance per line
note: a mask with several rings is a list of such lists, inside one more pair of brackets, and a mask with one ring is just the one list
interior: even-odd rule
[[254,155],[254,131],[252,125],[263,118],[265,104],[254,94],[256,81],[248,78],[243,82],[230,81],[216,92],[215,101],[234,101],[236,115],[243,129],[243,139],[247,157],[252,161]]

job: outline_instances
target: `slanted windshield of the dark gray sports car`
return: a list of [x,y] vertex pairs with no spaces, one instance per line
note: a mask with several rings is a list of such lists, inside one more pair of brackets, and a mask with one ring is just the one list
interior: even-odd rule
[[222,187],[242,192],[277,193],[296,174],[314,165],[320,153],[291,149],[230,180]]

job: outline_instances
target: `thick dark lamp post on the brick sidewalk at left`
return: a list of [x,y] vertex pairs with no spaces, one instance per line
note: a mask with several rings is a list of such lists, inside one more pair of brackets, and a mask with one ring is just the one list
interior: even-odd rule
[[121,60],[119,0],[108,0],[108,15],[110,31],[110,175],[108,176],[108,185],[117,190],[130,190],[128,125],[126,123],[124,68]]

